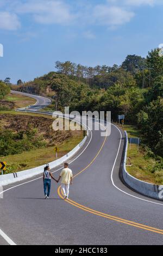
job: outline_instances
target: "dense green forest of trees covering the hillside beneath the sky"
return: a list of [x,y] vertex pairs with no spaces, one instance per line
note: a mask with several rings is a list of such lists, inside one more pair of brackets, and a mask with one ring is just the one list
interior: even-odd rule
[[142,131],[146,145],[163,157],[163,57],[158,49],[147,58],[129,55],[121,66],[56,62],[55,69],[15,88],[38,94],[50,91],[60,111],[65,106],[79,112],[111,111],[114,121],[125,114],[126,121]]

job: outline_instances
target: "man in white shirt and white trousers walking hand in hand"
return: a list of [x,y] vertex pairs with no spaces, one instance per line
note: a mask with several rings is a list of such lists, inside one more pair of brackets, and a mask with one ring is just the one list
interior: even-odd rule
[[61,188],[64,193],[65,199],[68,199],[69,186],[72,185],[72,170],[68,168],[68,163],[64,163],[64,169],[62,169],[58,182],[61,179]]

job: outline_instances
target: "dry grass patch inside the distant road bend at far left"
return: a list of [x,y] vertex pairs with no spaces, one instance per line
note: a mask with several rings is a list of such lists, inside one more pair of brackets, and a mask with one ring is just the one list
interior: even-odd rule
[[27,107],[29,105],[33,105],[36,102],[36,100],[33,98],[18,94],[8,94],[4,97],[4,100],[14,102],[15,108]]

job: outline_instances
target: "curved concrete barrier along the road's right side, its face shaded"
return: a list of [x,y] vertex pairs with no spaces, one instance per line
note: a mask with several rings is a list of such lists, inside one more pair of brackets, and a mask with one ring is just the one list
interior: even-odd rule
[[152,197],[155,199],[159,199],[159,186],[158,185],[154,185],[142,180],[138,180],[136,178],[134,178],[133,176],[131,176],[127,170],[126,170],[126,162],[127,162],[127,150],[128,150],[128,135],[127,132],[125,132],[125,136],[126,136],[126,149],[125,149],[125,153],[124,153],[124,161],[123,161],[123,169],[122,169],[122,177],[123,180],[126,182],[126,184],[133,188],[135,191],[147,196],[147,197]]

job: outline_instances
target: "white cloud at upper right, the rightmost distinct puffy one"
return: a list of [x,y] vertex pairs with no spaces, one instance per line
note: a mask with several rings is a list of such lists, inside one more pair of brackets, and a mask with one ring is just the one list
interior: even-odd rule
[[93,17],[100,25],[116,27],[129,22],[134,17],[133,11],[108,5],[97,5],[93,10]]

